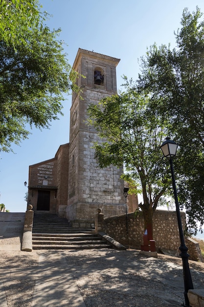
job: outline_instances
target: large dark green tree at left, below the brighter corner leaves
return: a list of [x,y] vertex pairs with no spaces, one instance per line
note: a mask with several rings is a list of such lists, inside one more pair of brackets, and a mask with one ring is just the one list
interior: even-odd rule
[[19,145],[28,137],[27,124],[48,128],[50,121],[62,114],[64,93],[78,90],[77,74],[71,70],[63,42],[58,40],[60,30],[34,23],[31,31],[26,44],[15,48],[0,40],[1,151],[10,151],[12,143]]

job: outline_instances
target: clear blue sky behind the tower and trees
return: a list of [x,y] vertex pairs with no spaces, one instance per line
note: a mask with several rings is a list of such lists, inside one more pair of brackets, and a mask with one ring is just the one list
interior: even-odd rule
[[[43,10],[52,15],[50,28],[61,28],[60,38],[68,46],[72,65],[78,48],[120,59],[117,87],[122,75],[137,78],[138,59],[148,47],[175,46],[174,31],[181,27],[182,11],[198,6],[204,12],[203,0],[40,0]],[[71,96],[63,102],[64,116],[51,123],[50,129],[33,128],[29,139],[13,146],[14,153],[0,153],[0,203],[10,212],[24,212],[29,165],[54,157],[59,146],[69,141]]]

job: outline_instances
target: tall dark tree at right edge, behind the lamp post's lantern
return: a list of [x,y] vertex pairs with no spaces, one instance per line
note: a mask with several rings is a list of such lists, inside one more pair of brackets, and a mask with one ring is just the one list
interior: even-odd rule
[[[204,22],[197,7],[183,10],[177,47],[153,45],[141,58],[137,89],[151,93],[150,109],[180,146],[175,160],[178,194],[185,207],[189,231],[204,224]],[[168,134],[169,134],[168,133]]]

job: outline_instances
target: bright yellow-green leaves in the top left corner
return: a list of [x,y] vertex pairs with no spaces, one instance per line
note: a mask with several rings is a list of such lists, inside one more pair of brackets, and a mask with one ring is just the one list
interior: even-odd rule
[[38,0],[1,0],[0,41],[8,46],[26,45],[32,29],[41,25]]

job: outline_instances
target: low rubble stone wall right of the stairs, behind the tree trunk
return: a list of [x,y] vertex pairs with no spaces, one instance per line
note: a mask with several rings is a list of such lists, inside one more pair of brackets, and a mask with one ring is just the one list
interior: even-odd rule
[[[104,215],[105,216],[105,215]],[[141,211],[127,214],[128,235],[126,230],[126,214],[104,218],[100,231],[113,237],[124,246],[140,249],[143,244],[144,220]],[[181,223],[185,229],[185,213],[181,212]],[[156,210],[153,216],[153,236],[158,252],[179,256],[180,235],[177,214],[174,211]],[[188,247],[189,259],[202,261],[201,251],[197,242],[185,239]]]

